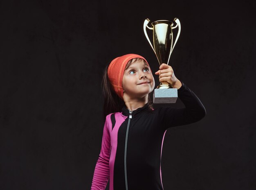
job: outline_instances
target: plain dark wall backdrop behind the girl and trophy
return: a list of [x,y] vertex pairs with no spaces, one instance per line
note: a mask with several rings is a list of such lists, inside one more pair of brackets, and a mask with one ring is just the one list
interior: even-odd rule
[[[166,132],[164,189],[255,190],[255,9],[246,0],[1,1],[0,189],[89,190],[103,69],[137,53],[157,71],[144,20],[178,17],[169,65],[207,115]],[[164,106],[184,107],[179,98]]]

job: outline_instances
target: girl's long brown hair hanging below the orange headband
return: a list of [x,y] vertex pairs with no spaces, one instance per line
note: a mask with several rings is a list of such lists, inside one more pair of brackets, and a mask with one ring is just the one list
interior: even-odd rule
[[[134,58],[131,59],[130,61],[128,61],[127,65],[126,65],[126,69],[128,69],[128,67],[134,63],[135,61],[138,60],[143,60],[145,65],[147,65],[146,61],[144,59],[141,58]],[[108,64],[109,66],[109,64]],[[101,86],[102,86],[102,94],[103,94],[103,99],[104,99],[104,103],[103,103],[103,120],[105,120],[106,116],[110,113],[115,113],[115,112],[121,112],[122,108],[125,106],[124,100],[121,99],[117,93],[115,92],[115,90],[113,89],[110,80],[108,78],[108,66],[106,66],[106,68],[103,71],[103,79],[101,82]],[[153,109],[153,103],[151,100],[151,95],[152,95],[153,91],[150,92],[148,94],[148,109],[150,111],[152,111]]]

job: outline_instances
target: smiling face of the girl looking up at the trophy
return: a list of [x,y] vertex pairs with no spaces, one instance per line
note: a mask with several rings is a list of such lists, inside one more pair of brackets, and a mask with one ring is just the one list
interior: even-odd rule
[[[143,82],[147,83],[140,84]],[[124,71],[122,84],[124,94],[130,98],[142,98],[154,90],[155,80],[149,66],[140,60],[132,63]]]

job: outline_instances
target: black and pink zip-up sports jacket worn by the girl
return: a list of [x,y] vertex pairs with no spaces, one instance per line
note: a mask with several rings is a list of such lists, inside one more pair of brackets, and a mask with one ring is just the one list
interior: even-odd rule
[[104,190],[109,179],[110,190],[164,189],[161,156],[166,130],[206,115],[199,98],[183,82],[177,92],[185,108],[150,110],[147,103],[130,113],[124,106],[106,116],[92,190]]

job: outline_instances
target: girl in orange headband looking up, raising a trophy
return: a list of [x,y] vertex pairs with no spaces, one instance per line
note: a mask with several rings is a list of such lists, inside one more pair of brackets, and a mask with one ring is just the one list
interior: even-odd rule
[[153,109],[150,92],[155,81],[146,59],[127,54],[115,58],[103,76],[104,119],[99,159],[91,190],[163,190],[161,156],[164,135],[170,127],[204,118],[198,97],[180,80],[171,66],[155,72],[159,81],[177,88],[185,108]]

